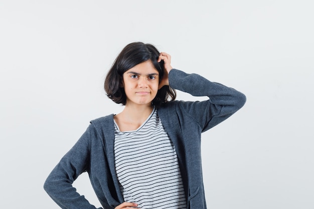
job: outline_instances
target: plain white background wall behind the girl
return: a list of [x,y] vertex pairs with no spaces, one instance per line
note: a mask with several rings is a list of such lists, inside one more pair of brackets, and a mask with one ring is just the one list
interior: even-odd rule
[[[103,81],[134,41],[247,96],[203,134],[208,208],[314,208],[313,11],[310,0],[0,0],[0,208],[59,208],[43,183],[90,120],[122,110]],[[86,173],[75,186],[101,206]]]

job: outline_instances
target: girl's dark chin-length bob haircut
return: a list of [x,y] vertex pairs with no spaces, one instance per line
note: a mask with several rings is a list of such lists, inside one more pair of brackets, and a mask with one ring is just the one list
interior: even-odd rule
[[[151,44],[134,42],[126,45],[115,59],[109,70],[104,84],[107,96],[117,104],[125,105],[126,95],[123,86],[123,73],[142,62],[150,60],[154,68],[159,72],[159,82],[164,77],[164,61],[157,62],[160,52]],[[163,86],[158,90],[152,105],[161,106],[163,103],[176,99],[176,90],[170,86]]]

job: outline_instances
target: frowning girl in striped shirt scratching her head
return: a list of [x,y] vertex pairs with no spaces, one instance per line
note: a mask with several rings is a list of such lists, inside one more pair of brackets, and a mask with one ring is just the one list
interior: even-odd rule
[[[95,209],[72,187],[87,171],[105,209],[206,208],[201,133],[230,117],[244,94],[171,66],[171,56],[141,42],[118,55],[104,84],[121,113],[91,124],[48,176],[44,188],[62,208]],[[176,101],[176,91],[208,96]]]

